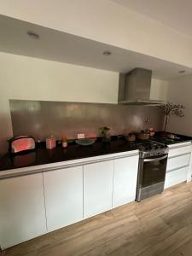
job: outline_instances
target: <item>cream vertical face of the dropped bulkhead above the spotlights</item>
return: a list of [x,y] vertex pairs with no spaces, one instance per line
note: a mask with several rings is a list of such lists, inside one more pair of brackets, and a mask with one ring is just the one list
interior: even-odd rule
[[192,67],[192,38],[109,0],[0,0],[0,14]]

